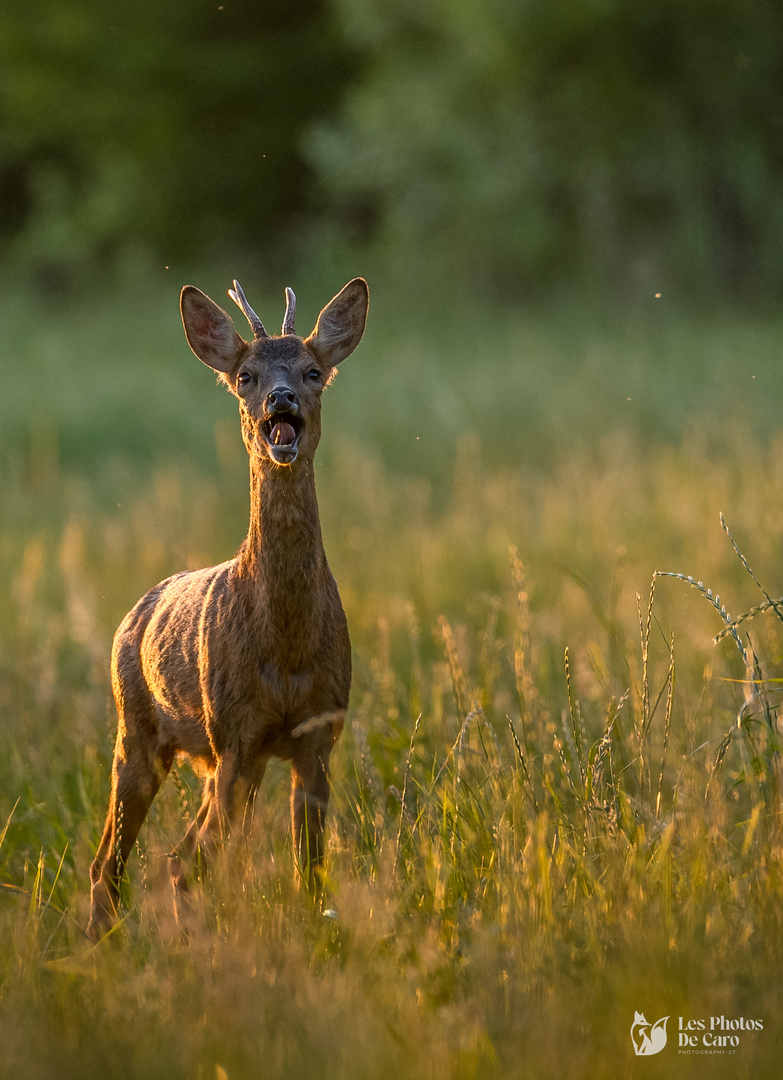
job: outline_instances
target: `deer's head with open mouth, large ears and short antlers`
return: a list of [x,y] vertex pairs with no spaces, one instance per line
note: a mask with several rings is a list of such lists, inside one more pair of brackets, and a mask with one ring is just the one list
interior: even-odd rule
[[364,334],[367,283],[363,278],[349,282],[306,338],[294,329],[296,298],[289,288],[283,332],[270,337],[239,283],[233,284],[229,296],[251,324],[253,341],[240,337],[214,300],[186,285],[179,307],[188,345],[239,399],[242,437],[252,457],[275,465],[311,461],[321,437],[321,393]]

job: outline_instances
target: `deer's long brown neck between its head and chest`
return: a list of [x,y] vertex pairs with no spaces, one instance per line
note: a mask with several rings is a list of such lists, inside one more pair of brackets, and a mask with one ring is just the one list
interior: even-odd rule
[[312,461],[281,468],[251,458],[251,523],[238,571],[281,633],[310,624],[326,572]]

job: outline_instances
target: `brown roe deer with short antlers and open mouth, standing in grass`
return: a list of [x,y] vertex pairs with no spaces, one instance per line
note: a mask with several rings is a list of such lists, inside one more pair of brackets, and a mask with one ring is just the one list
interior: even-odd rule
[[328,759],[348,707],[351,647],[321,538],[313,456],[321,393],[362,339],[368,289],[362,278],[349,282],[302,339],[291,289],[282,335],[270,336],[233,284],[249,343],[192,285],[180,309],[190,348],[239,399],[249,529],[235,558],[156,585],[114,636],[119,726],[109,810],[90,869],[92,940],[117,918],[125,861],[179,752],[206,779],[195,821],[170,856],[175,894],[187,888],[184,862],[198,845],[208,852],[224,833],[247,831],[270,756],[292,761],[295,858],[320,891]]

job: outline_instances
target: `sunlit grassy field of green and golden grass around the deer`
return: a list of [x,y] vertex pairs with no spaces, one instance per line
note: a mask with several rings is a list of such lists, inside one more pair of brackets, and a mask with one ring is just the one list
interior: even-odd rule
[[[124,921],[87,947],[113,630],[246,527],[235,405],[176,295],[12,295],[0,328],[0,1075],[779,1076],[783,634],[766,611],[713,643],[723,605],[765,603],[720,512],[783,593],[783,321],[762,314],[664,297],[422,325],[374,297],[319,469],[355,665],[339,920],[294,888],[278,762],[183,940],[162,858],[198,805],[183,765]],[[327,296],[302,295],[302,326]],[[670,1016],[649,1059],[636,1012]],[[679,1018],[713,1016],[762,1029],[678,1054]]]

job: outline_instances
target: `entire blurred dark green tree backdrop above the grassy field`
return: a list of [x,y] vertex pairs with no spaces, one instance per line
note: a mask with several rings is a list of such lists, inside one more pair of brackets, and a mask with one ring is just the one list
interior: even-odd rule
[[5,5],[6,258],[770,296],[781,40],[772,0]]

